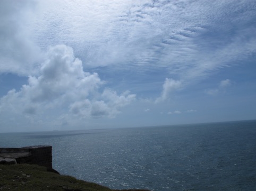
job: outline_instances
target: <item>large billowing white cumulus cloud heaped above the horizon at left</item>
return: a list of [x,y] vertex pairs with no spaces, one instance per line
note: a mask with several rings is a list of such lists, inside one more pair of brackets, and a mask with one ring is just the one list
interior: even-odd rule
[[135,94],[128,91],[118,95],[105,88],[100,92],[104,85],[97,73],[83,71],[82,61],[74,57],[71,47],[50,47],[39,75],[29,76],[28,84],[18,91],[10,90],[0,99],[1,113],[28,117],[37,114],[39,118],[46,112],[56,112],[55,117],[70,112],[80,118],[115,117],[135,100]]

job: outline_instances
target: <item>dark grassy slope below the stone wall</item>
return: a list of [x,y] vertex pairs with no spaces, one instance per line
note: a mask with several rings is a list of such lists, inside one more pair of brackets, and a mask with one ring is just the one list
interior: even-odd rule
[[0,191],[4,190],[112,191],[95,183],[48,172],[45,167],[27,164],[0,165]]

